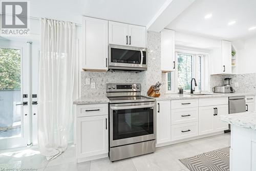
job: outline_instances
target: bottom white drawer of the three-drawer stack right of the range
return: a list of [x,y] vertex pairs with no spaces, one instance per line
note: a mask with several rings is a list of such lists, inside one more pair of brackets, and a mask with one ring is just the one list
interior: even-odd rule
[[172,125],[172,141],[198,136],[198,122]]

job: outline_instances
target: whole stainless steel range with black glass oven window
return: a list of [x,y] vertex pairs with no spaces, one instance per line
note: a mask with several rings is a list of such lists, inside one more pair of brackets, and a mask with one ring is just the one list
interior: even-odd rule
[[156,103],[141,95],[140,84],[106,84],[110,99],[110,160],[156,150]]

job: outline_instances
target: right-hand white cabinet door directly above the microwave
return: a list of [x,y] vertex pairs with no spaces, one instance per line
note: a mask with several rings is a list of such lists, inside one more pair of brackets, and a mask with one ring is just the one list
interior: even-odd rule
[[146,47],[146,28],[142,26],[129,25],[129,39],[130,46]]

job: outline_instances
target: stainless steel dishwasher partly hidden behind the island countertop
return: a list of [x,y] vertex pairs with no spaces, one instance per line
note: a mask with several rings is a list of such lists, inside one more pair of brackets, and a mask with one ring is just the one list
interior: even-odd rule
[[[233,96],[228,98],[228,114],[246,112],[245,96]],[[224,133],[230,132],[230,124],[228,130]]]

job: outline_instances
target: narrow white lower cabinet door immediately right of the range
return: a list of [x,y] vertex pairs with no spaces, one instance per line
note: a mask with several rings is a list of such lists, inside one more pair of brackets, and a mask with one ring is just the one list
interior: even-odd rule
[[171,123],[170,123],[170,100],[157,101],[157,126],[156,143],[167,143],[171,141]]

